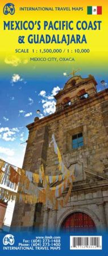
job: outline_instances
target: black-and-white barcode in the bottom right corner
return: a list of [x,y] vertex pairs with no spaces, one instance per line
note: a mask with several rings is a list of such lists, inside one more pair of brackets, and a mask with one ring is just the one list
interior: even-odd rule
[[102,250],[102,236],[70,236],[70,250]]

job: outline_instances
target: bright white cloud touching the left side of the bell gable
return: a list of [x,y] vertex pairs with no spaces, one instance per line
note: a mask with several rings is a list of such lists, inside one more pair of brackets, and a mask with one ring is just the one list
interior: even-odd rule
[[39,96],[43,97],[41,98],[41,103],[43,104],[43,112],[44,114],[52,114],[56,110],[56,101],[53,96],[55,96],[59,92],[60,88],[59,86],[56,86],[53,88],[51,94],[48,94],[45,92],[45,90],[41,90],[39,93]]

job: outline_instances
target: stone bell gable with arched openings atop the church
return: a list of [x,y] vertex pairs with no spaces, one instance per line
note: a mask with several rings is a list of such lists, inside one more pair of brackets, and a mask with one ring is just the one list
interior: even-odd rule
[[70,78],[64,89],[56,94],[56,111],[73,105],[80,101],[93,96],[96,90],[97,82],[92,75],[87,79],[82,79],[81,76],[74,76]]

